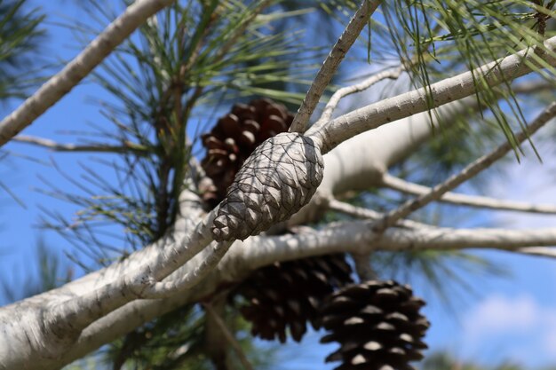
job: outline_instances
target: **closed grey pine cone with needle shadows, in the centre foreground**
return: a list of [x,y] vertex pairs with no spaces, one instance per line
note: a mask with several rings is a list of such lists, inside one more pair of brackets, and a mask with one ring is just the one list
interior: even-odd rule
[[245,240],[287,220],[322,181],[320,148],[297,132],[267,139],[235,175],[211,229],[214,240]]

